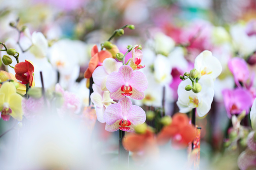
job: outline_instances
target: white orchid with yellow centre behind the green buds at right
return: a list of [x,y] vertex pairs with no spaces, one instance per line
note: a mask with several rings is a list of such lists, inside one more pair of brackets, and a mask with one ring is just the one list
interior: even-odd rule
[[203,117],[210,111],[214,97],[213,79],[210,75],[204,75],[198,80],[198,83],[202,87],[199,93],[185,90],[188,84],[192,86],[192,82],[189,79],[179,84],[177,105],[181,113],[187,113],[196,108],[198,116]]

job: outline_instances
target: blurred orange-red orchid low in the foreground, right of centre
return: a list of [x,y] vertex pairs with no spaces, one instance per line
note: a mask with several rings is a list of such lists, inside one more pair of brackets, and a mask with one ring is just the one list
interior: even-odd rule
[[172,144],[185,147],[196,136],[195,127],[189,124],[188,117],[184,113],[176,113],[170,125],[164,127],[158,134],[159,144],[165,144],[172,139]]

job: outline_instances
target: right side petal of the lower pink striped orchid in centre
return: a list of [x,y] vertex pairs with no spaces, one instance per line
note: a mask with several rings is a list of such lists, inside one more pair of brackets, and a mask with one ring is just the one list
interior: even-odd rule
[[139,106],[131,106],[127,115],[127,119],[135,126],[146,121],[146,114]]

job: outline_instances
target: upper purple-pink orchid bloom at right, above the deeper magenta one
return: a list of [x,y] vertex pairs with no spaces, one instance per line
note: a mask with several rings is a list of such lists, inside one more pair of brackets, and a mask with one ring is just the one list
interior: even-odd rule
[[235,57],[229,60],[228,67],[234,75],[235,83],[238,87],[241,87],[240,82],[246,82],[249,78],[249,69],[244,59]]

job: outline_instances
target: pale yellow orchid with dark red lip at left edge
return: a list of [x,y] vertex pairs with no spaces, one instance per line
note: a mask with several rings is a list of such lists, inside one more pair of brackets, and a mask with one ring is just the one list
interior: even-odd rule
[[1,117],[3,120],[8,121],[10,116],[18,121],[22,120],[22,97],[16,93],[14,83],[5,82],[0,88],[0,108]]

